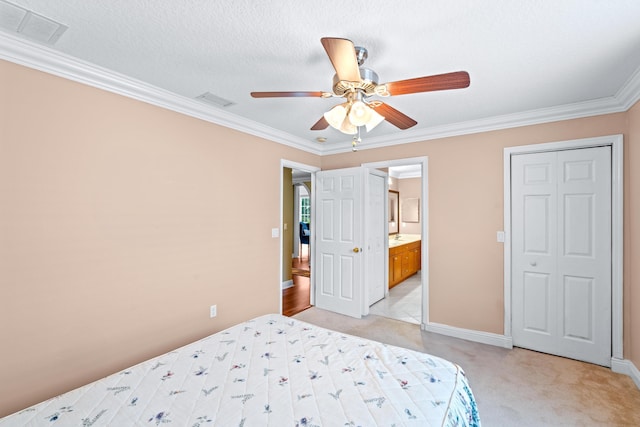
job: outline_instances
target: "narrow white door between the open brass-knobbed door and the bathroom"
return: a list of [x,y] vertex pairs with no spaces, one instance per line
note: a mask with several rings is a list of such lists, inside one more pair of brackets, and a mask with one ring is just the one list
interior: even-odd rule
[[389,242],[387,214],[387,174],[375,170],[367,174],[367,194],[369,202],[365,212],[365,283],[368,291],[368,307],[384,298],[389,283],[387,276],[388,259],[386,248]]

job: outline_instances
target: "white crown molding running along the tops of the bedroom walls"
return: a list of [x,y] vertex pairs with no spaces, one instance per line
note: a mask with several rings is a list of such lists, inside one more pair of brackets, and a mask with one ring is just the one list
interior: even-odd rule
[[[236,114],[216,109],[215,107],[211,107],[194,99],[180,96],[145,82],[132,79],[4,31],[0,31],[0,59],[5,59],[49,74],[248,133],[311,154],[322,156],[351,151],[350,141],[347,141],[348,143],[345,145],[332,144],[321,146],[314,144],[311,141],[293,136],[287,132],[282,132]],[[433,126],[414,131],[404,131],[391,136],[384,135],[367,138],[358,146],[358,150],[619,113],[627,111],[638,102],[639,99],[640,68],[637,69],[622,88],[611,97],[442,126]],[[337,145],[337,147],[334,147],[334,145]]]

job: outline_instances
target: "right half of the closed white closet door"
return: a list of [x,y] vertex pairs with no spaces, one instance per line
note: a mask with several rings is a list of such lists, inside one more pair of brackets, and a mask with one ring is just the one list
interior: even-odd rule
[[611,365],[611,148],[558,152],[560,354]]

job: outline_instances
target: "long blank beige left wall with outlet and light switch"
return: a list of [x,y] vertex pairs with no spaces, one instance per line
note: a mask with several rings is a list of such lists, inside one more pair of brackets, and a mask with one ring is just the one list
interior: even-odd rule
[[0,82],[0,416],[279,311],[280,159],[318,156],[4,61]]

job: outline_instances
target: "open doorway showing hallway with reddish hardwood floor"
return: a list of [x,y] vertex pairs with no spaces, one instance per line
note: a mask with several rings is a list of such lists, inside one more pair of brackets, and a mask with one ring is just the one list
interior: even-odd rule
[[293,316],[311,306],[312,186],[318,168],[281,162],[281,313]]

